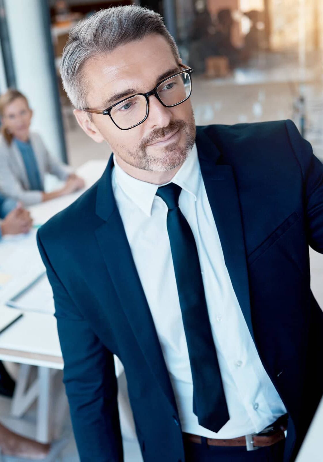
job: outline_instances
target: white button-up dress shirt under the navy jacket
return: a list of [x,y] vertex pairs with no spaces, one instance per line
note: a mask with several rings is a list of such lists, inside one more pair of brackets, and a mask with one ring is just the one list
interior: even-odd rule
[[167,234],[167,206],[156,196],[158,185],[127,175],[115,157],[114,164],[114,196],[156,326],[183,432],[208,438],[236,438],[262,431],[287,411],[263,368],[233,290],[196,145],[172,182],[182,188],[179,207],[197,244],[230,415],[217,433],[200,426],[193,413],[193,382]]

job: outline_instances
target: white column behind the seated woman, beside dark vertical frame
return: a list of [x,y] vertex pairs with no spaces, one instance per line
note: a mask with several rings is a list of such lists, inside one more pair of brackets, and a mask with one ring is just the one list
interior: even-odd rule
[[17,88],[34,110],[31,129],[41,134],[49,152],[62,158],[42,1],[45,0],[5,0],[6,18]]

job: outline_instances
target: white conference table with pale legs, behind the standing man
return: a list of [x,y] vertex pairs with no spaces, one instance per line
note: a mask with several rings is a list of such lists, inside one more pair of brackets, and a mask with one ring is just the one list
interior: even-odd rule
[[[36,228],[44,224],[54,214],[72,204],[79,195],[90,188],[100,178],[106,165],[107,161],[104,160],[86,162],[76,172],[84,178],[85,188],[83,190],[30,207],[29,210],[34,219],[34,229],[30,232],[29,236],[4,239],[3,245],[0,246],[0,261],[6,261],[11,255],[14,255],[17,261],[18,258],[24,261],[24,255],[27,255],[29,259],[32,256],[38,265],[35,274],[41,273],[41,271],[45,273],[45,267],[42,270],[39,269],[39,255],[36,249]],[[15,249],[14,252],[12,249]],[[16,255],[16,250],[18,250],[18,255]],[[28,259],[24,261],[24,265],[27,264]],[[18,280],[16,278],[15,282],[17,284],[17,292],[20,292],[23,285],[26,286],[29,284],[30,278],[28,279],[27,270],[22,272],[17,271],[17,274]],[[20,276],[20,279],[24,279],[22,282],[19,280]],[[37,294],[36,284],[36,289],[33,288],[33,290],[34,292],[36,290],[39,302],[42,299],[42,291],[39,290]],[[10,288],[8,297],[12,294],[12,288]],[[48,298],[48,294],[46,294],[46,297]],[[2,299],[1,303],[4,303]],[[64,367],[54,316],[32,311],[24,312],[24,316],[21,319],[0,334],[0,360],[11,361],[21,365],[12,400],[12,415],[21,417],[30,405],[37,400],[36,439],[44,443],[50,441],[52,437],[50,420],[51,411],[53,410],[50,399],[52,377],[55,371],[62,370]],[[118,372],[122,372],[122,366],[120,362],[118,363],[117,359],[116,363],[118,374]],[[29,384],[31,366],[37,366],[37,377]],[[58,401],[55,404],[56,408],[64,407],[64,404],[66,404],[65,393],[62,392],[59,395]]]

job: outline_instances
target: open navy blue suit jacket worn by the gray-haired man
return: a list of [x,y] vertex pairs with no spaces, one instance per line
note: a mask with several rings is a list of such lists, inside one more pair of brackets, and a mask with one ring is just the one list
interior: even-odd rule
[[[290,121],[199,127],[196,142],[233,288],[290,415],[285,462],[292,461],[323,392],[323,313],[310,289],[308,250],[323,253],[323,164]],[[184,462],[173,389],[114,200],[112,167],[111,157],[100,180],[38,233],[78,451],[82,462],[123,460],[116,354],[144,461]]]

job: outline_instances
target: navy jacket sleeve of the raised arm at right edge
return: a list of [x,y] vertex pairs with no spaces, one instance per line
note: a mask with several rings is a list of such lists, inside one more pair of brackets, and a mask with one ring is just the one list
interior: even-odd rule
[[299,134],[293,122],[286,122],[287,132],[303,176],[307,236],[310,246],[323,253],[323,164],[312,147]]

